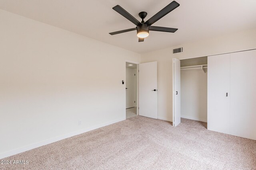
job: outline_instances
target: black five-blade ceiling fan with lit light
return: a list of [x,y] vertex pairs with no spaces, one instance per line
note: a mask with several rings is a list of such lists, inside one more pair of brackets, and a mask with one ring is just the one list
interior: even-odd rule
[[129,21],[134,23],[136,25],[136,27],[130,28],[130,29],[124,29],[121,31],[115,31],[115,32],[112,32],[109,34],[116,35],[116,34],[125,33],[128,31],[137,30],[137,36],[139,37],[139,42],[142,42],[142,41],[144,41],[144,38],[148,37],[149,31],[162,31],[162,32],[174,33],[175,31],[178,30],[177,28],[157,27],[157,26],[152,26],[152,24],[155,23],[156,21],[160,20],[162,17],[164,17],[166,14],[168,14],[169,12],[171,12],[178,6],[180,6],[180,4],[178,4],[178,2],[172,1],[169,5],[164,7],[162,10],[160,10],[158,13],[156,13],[154,16],[152,16],[146,22],[144,21],[144,19],[147,16],[146,12],[139,13],[140,18],[142,19],[142,21],[140,22],[136,18],[134,18],[131,14],[129,14],[126,10],[124,10],[124,8],[122,8],[121,6],[119,6],[119,5],[114,6],[113,10],[115,10],[116,12],[118,12],[119,14],[124,16],[126,19],[128,19]]

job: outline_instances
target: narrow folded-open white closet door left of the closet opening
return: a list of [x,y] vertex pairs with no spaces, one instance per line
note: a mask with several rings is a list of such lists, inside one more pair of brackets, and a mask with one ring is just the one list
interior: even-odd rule
[[177,126],[180,124],[180,60],[173,59],[172,64],[172,124]]

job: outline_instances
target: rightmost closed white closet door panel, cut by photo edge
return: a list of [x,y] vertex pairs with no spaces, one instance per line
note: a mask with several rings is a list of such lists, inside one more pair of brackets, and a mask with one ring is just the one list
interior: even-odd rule
[[256,50],[230,54],[230,134],[256,140]]

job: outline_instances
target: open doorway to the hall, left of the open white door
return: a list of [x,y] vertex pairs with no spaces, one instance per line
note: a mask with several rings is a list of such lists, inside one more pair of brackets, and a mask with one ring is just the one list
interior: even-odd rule
[[137,116],[137,64],[126,62],[126,119]]

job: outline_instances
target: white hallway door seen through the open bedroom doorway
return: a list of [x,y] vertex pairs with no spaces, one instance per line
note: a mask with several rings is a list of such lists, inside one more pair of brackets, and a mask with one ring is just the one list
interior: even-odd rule
[[136,71],[126,68],[126,109],[136,106]]

